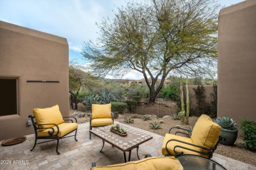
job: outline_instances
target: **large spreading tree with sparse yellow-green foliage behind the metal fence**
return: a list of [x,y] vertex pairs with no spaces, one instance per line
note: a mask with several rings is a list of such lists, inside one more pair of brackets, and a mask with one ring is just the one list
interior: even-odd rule
[[81,54],[100,76],[138,71],[150,90],[150,103],[155,103],[170,73],[215,72],[218,7],[215,0],[128,3],[113,19],[97,24],[96,43],[87,42]]

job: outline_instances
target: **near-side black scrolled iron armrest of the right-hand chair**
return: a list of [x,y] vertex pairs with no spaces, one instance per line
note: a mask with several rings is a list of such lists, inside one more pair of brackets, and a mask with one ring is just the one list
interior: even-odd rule
[[205,149],[205,150],[209,150],[211,152],[209,153],[205,153],[205,152],[200,152],[198,150],[194,150],[194,149],[191,149],[191,148],[186,148],[184,146],[181,146],[181,145],[175,145],[174,148],[173,148],[173,151],[175,152],[175,154],[177,154],[177,156],[181,156],[183,154],[183,152],[177,152],[175,150],[175,148],[183,148],[185,150],[190,150],[192,152],[197,152],[197,153],[200,153],[200,154],[204,154],[204,155],[207,155],[207,156],[210,156],[211,154],[213,154],[214,150],[216,149],[216,147],[213,147],[213,148],[206,148],[204,146],[199,146],[197,144],[192,144],[192,143],[186,143],[184,141],[180,141],[180,140],[177,140],[177,139],[170,139],[169,141],[167,141],[167,143],[165,144],[165,149],[167,151],[167,153],[171,156],[173,156],[173,154],[171,154],[171,152],[169,152],[168,148],[167,148],[167,144],[171,141],[176,141],[176,142],[179,142],[179,143],[184,143],[184,144],[188,144],[188,145],[191,145],[191,146],[195,146],[195,147],[198,147],[198,148],[202,148],[202,149]]

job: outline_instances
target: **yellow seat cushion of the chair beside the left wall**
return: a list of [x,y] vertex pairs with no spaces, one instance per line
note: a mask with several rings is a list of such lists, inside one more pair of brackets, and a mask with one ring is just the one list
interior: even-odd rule
[[[70,131],[74,131],[75,129],[77,129],[78,124],[77,123],[62,123],[62,124],[58,124],[58,128],[59,128],[59,133],[58,133],[58,137],[63,137],[64,135],[70,133]],[[54,133],[53,135],[56,135],[57,133],[57,127],[54,126]],[[45,129],[44,131],[38,131],[37,135],[39,137],[45,137],[45,136],[51,136],[49,135],[48,131],[53,131],[53,129]]]

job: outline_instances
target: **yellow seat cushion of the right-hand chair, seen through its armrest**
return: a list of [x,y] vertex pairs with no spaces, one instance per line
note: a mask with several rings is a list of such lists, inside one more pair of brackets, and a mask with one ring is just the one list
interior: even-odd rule
[[[186,142],[186,143],[193,144],[192,139],[190,139],[188,137],[181,137],[181,136],[178,136],[178,135],[172,135],[172,134],[166,133],[165,134],[165,138],[163,139],[163,145],[161,146],[161,153],[163,155],[167,155],[168,154],[167,151],[166,151],[165,145],[166,145],[167,141],[169,141],[170,139],[177,139],[179,141],[183,141],[183,142]],[[174,146],[176,146],[176,145],[184,146],[186,148],[190,148],[190,149],[193,149],[193,150],[198,150],[198,151],[200,150],[199,148],[197,148],[195,146],[191,146],[191,145],[188,145],[188,144],[180,143],[180,142],[177,142],[177,141],[171,141],[171,142],[169,142],[167,144],[167,148],[168,148],[169,152],[171,152],[171,154],[173,154],[173,156],[177,155],[173,151]],[[200,155],[197,152],[192,152],[190,150],[186,150],[186,149],[183,149],[183,148],[175,148],[175,151],[177,151],[177,152],[181,152],[182,151],[184,154]]]

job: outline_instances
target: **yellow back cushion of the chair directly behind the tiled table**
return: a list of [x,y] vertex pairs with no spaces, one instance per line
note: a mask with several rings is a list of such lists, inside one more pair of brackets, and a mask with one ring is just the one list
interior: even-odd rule
[[95,118],[112,118],[111,103],[106,105],[92,105],[92,119]]

